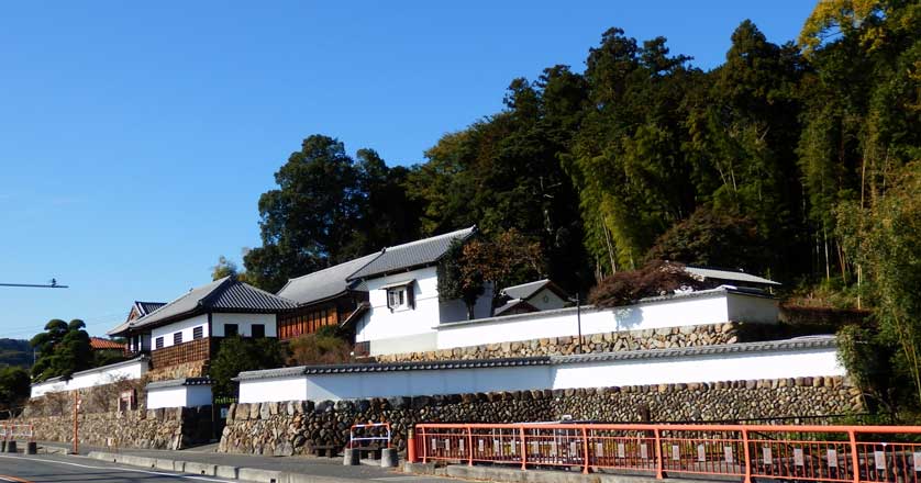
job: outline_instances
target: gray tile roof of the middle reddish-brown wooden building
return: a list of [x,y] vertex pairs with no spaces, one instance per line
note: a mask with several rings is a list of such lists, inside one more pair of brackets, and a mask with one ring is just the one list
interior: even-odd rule
[[[290,279],[278,291],[278,296],[307,305],[334,297],[347,290],[359,290],[357,282],[349,282],[346,279],[377,257],[380,257],[380,251]],[[367,291],[367,289],[364,290]]]

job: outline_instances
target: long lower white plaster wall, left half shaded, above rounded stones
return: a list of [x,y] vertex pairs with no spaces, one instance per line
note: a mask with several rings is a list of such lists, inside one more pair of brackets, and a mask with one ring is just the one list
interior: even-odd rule
[[845,375],[834,346],[543,366],[345,372],[244,379],[241,403]]

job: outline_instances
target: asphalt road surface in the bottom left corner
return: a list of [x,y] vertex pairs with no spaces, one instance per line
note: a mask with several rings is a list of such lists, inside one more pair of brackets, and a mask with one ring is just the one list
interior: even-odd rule
[[86,458],[60,456],[0,454],[0,482],[93,482],[93,483],[202,483],[231,482],[213,476],[184,475],[169,471],[142,470]]

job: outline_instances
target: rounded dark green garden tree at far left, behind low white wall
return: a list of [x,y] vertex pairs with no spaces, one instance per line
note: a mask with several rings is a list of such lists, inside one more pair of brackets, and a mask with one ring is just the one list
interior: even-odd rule
[[32,367],[35,382],[58,375],[69,377],[93,367],[92,348],[85,328],[86,324],[78,318],[69,324],[55,318],[45,325],[45,332],[30,340],[38,353]]

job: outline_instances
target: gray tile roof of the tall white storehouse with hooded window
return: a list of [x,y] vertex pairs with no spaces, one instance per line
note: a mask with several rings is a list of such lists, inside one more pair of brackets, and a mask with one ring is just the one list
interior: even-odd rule
[[348,280],[368,279],[384,273],[434,263],[444,256],[454,240],[467,239],[475,231],[476,227],[471,226],[444,235],[385,248],[379,257],[353,273],[348,277]]

